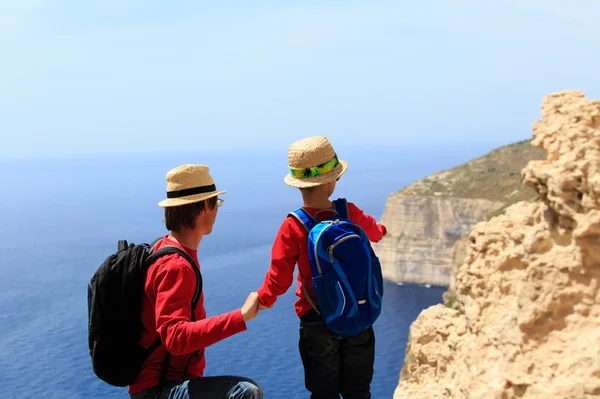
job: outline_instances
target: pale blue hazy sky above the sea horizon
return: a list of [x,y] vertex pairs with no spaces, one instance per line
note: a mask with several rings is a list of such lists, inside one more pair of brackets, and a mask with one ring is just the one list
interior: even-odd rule
[[600,98],[597,0],[405,3],[0,0],[0,156],[508,143]]

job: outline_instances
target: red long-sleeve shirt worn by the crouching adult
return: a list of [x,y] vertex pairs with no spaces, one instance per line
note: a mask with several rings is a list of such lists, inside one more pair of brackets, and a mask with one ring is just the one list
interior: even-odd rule
[[[156,250],[165,245],[184,249],[200,269],[198,251],[184,248],[167,236],[158,243]],[[184,377],[185,365],[196,350],[199,351],[198,356],[190,361],[187,375],[201,377],[206,366],[204,348],[246,330],[241,309],[206,318],[204,294],[200,295],[196,305],[196,321],[190,321],[195,290],[196,274],[180,255],[165,255],[148,269],[142,303],[144,330],[140,344],[147,348],[160,336],[164,346],[159,346],[146,359],[137,381],[129,386],[130,394],[158,385],[165,347],[171,353],[167,380]]]

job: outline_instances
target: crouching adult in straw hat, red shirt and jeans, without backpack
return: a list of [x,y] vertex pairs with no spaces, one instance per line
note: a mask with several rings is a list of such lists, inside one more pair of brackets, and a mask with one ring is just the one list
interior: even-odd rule
[[[194,261],[169,254],[148,269],[144,286],[140,344],[149,347],[158,337],[162,345],[144,363],[136,382],[129,386],[133,399],[142,398],[262,398],[258,385],[243,377],[203,377],[204,349],[246,330],[246,322],[258,312],[257,294],[251,293],[239,309],[206,317],[204,295],[200,294],[194,314],[190,303],[200,269],[198,247],[210,234],[223,200],[206,165],[182,165],[167,173],[167,199],[164,208],[169,234],[155,246],[183,249]],[[195,321],[194,321],[195,320]],[[165,357],[169,354],[164,386],[159,386]],[[190,377],[190,378],[188,378]]]

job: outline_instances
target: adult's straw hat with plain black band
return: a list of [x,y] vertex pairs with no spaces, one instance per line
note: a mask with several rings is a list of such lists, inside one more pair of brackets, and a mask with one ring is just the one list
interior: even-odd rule
[[200,202],[225,194],[217,191],[206,165],[181,165],[167,173],[167,199],[158,206],[167,208]]

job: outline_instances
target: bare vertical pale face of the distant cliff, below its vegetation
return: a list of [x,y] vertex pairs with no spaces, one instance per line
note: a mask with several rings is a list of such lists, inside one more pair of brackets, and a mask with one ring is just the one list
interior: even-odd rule
[[448,285],[452,247],[502,202],[395,194],[381,222],[388,236],[373,248],[384,278],[394,282]]

